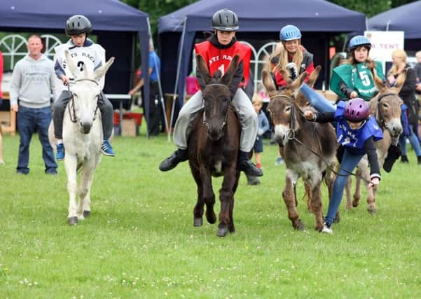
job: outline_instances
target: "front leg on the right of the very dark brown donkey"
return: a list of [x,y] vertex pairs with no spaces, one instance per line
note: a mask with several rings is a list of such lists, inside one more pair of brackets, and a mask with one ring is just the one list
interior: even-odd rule
[[219,190],[221,201],[221,212],[219,213],[218,236],[225,237],[228,233],[235,231],[233,223],[234,189],[237,183],[237,169],[230,167],[224,170],[222,188]]

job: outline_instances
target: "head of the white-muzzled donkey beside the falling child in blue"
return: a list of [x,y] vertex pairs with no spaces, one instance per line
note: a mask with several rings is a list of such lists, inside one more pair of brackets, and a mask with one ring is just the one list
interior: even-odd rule
[[274,138],[280,146],[286,145],[289,134],[299,130],[301,127],[303,116],[294,99],[307,75],[307,72],[303,72],[296,81],[287,85],[284,90],[276,90],[268,71],[262,72],[263,85],[265,85],[270,96],[270,102],[266,111],[270,113],[270,119],[275,127]]

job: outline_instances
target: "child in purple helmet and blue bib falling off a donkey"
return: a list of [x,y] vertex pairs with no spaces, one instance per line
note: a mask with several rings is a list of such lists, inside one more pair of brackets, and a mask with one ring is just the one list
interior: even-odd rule
[[333,194],[331,195],[329,209],[324,218],[322,230],[322,232],[331,234],[331,225],[335,220],[336,212],[342,200],[348,176],[365,154],[367,154],[368,162],[370,163],[371,186],[378,185],[380,182],[380,167],[374,142],[382,139],[383,134],[375,118],[370,115],[370,106],[364,99],[357,97],[347,102],[340,101],[337,106],[333,106],[308,85],[304,84],[301,87],[301,92],[310,102],[318,103],[315,105],[317,111],[324,111],[316,113],[305,111],[305,118],[318,123],[328,123],[336,120],[338,143],[345,147],[340,169],[333,184]]

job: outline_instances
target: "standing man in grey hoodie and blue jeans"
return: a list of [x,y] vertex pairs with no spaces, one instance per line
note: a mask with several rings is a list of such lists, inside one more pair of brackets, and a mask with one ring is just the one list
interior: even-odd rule
[[37,130],[43,146],[46,174],[57,174],[57,163],[53,148],[48,141],[48,126],[51,123],[51,99],[55,92],[55,74],[52,60],[41,53],[41,37],[32,35],[28,39],[29,54],[13,69],[10,100],[11,109],[18,112],[20,134],[19,158],[16,172],[28,174],[29,143]]

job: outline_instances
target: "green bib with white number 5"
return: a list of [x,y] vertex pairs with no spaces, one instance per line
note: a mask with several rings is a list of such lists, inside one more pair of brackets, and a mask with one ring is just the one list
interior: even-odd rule
[[[380,79],[383,79],[382,64],[375,62],[375,73]],[[339,83],[343,81],[349,88],[355,90],[358,96],[369,101],[373,94],[377,91],[373,76],[370,69],[365,63],[359,63],[355,66],[351,64],[343,64],[333,69],[331,78],[331,90],[335,92],[341,99],[347,97],[340,91]]]

